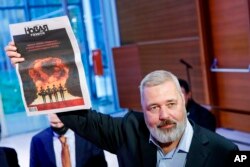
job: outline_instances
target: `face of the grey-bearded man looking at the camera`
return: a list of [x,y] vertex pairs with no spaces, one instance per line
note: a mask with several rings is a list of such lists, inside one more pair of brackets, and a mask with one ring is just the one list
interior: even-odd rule
[[145,87],[142,108],[151,135],[160,143],[180,139],[186,127],[186,108],[183,95],[173,82]]

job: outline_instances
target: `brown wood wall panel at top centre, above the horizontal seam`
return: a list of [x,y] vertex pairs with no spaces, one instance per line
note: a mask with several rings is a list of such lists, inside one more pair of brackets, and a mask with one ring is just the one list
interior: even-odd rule
[[196,36],[193,0],[117,0],[121,43]]

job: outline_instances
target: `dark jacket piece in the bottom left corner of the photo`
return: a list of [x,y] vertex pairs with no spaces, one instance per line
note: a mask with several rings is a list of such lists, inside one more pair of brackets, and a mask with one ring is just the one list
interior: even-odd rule
[[16,150],[0,147],[0,167],[19,167]]

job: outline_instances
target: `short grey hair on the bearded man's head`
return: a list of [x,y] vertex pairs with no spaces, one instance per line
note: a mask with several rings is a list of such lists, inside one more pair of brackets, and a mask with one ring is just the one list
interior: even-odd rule
[[177,77],[169,71],[157,70],[147,74],[140,83],[140,93],[142,97],[143,89],[145,87],[157,86],[166,81],[172,81],[176,85],[177,90],[181,93],[181,87]]

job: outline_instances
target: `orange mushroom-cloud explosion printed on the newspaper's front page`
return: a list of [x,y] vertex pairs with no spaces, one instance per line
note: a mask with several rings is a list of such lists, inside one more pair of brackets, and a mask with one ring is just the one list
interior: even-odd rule
[[[65,83],[69,77],[69,68],[60,58],[48,57],[37,59],[30,66],[29,76],[36,86],[38,95],[38,98],[35,99],[33,104],[39,104],[42,103],[42,101],[43,103],[59,101],[57,92],[54,93],[56,96],[52,97],[52,91],[53,88],[65,88]],[[68,94],[66,90],[65,88],[62,100],[64,100],[64,94]],[[46,91],[47,93],[46,97],[45,95],[43,96],[43,100],[41,99],[42,91]],[[49,100],[46,100],[46,98],[49,98]]]

